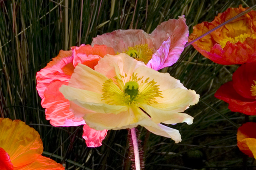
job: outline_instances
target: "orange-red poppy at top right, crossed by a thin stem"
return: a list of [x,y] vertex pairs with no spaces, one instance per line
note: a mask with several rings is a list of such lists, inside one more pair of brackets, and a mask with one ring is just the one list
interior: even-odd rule
[[[228,8],[225,12],[218,14],[212,22],[202,22],[194,26],[188,41],[196,39],[246,9],[242,5],[239,8]],[[250,11],[202,37],[192,45],[204,57],[218,64],[256,62],[255,33],[256,11]]]

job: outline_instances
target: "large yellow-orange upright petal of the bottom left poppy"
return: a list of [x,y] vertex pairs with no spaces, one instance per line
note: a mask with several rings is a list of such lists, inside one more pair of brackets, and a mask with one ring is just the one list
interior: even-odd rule
[[0,147],[9,155],[14,167],[36,160],[43,152],[38,132],[23,121],[0,118]]

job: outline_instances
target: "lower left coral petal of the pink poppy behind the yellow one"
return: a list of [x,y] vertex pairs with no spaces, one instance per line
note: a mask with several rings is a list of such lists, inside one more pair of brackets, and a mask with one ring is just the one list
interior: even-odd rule
[[69,101],[58,90],[63,84],[68,84],[68,82],[52,82],[44,92],[45,100],[41,104],[46,108],[46,120],[50,120],[53,126],[84,125],[84,119],[74,117],[69,110]]

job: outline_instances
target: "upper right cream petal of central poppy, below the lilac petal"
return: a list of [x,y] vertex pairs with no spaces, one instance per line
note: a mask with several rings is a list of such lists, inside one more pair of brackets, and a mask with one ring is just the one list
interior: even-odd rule
[[158,87],[160,91],[176,88],[187,89],[180,83],[180,80],[173,78],[169,73],[158,72],[146,66],[138,67],[134,70],[134,74],[137,74],[138,78],[143,77],[142,80],[145,80],[148,77],[150,78],[149,81],[154,80],[157,82],[156,85],[159,85]]

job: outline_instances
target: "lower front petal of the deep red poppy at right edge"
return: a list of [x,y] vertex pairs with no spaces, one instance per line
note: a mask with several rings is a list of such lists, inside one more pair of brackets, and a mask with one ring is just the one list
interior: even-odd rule
[[227,82],[220,86],[214,96],[229,104],[228,109],[238,111],[246,115],[256,115],[256,100],[240,96],[233,88],[233,82]]

